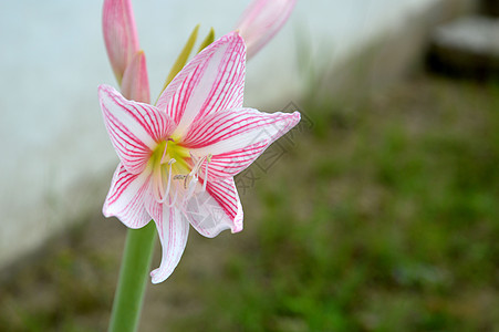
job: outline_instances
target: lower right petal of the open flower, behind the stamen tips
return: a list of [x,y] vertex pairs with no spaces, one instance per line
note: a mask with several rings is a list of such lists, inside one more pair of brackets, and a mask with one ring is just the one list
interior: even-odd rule
[[201,185],[187,201],[185,215],[190,225],[202,236],[212,238],[220,231],[242,230],[242,206],[233,178],[208,181],[206,191]]

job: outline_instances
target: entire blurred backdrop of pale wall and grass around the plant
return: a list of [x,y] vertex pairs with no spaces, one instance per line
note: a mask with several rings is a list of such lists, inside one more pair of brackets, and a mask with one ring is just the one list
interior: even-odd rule
[[[249,1],[133,3],[155,96],[194,25]],[[126,228],[101,214],[101,7],[0,3],[0,331],[107,326]],[[237,177],[245,230],[190,231],[139,330],[498,331],[498,7],[299,1],[245,103],[303,120]]]

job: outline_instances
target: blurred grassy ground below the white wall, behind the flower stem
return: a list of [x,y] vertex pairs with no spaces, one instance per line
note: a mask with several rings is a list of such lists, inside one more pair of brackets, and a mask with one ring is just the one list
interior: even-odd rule
[[[141,331],[498,331],[499,85],[301,108],[238,178],[245,230],[191,231]],[[90,219],[3,280],[0,330],[105,330],[125,229]]]

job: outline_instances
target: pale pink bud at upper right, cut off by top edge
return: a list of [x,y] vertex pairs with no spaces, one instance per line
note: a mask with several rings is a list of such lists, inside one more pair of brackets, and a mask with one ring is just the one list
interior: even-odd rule
[[297,0],[253,0],[250,3],[237,25],[248,46],[248,59],[281,30],[295,3]]

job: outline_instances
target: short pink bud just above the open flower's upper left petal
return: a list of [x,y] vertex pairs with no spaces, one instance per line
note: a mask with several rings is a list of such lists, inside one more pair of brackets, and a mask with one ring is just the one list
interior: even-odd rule
[[144,51],[138,51],[126,66],[122,93],[131,101],[149,103],[149,81]]

